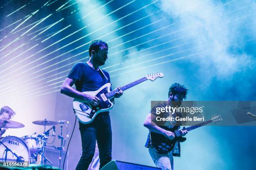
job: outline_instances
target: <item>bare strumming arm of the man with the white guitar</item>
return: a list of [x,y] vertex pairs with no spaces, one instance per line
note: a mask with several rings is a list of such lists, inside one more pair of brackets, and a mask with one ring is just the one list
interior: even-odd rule
[[87,101],[92,105],[97,105],[100,99],[96,96],[87,95],[72,88],[72,85],[74,85],[75,82],[76,80],[67,77],[61,86],[61,93],[69,97]]

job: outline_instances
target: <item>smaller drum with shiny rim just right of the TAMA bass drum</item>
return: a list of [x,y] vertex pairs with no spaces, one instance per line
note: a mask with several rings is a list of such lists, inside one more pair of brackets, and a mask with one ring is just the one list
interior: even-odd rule
[[38,138],[37,135],[26,135],[21,137],[21,139],[28,145],[31,155],[41,152],[41,138]]

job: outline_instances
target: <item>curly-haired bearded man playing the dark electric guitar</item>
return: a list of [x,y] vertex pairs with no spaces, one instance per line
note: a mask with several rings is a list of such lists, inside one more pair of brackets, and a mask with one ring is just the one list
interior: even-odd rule
[[[172,126],[170,123],[176,124],[177,122],[154,122],[156,120],[156,107],[166,107],[172,106],[173,103],[179,107],[182,103],[183,99],[186,99],[188,89],[179,83],[174,83],[169,88],[168,99],[164,103],[156,104],[151,111],[148,113],[146,120],[144,121],[144,126],[148,128],[151,132],[159,133],[164,135],[166,138],[170,140],[174,139],[174,133],[171,131],[165,130],[163,126]],[[181,116],[179,112],[171,113],[171,112],[161,112],[160,117],[176,117]],[[169,123],[169,124],[168,124]],[[187,130],[181,130],[182,136],[187,134]],[[149,154],[151,155],[152,160],[154,161],[156,167],[161,168],[163,170],[174,170],[173,169],[173,156],[180,156],[180,145],[179,142],[175,143],[174,148],[166,154],[160,154],[156,151],[156,149],[152,146],[150,140],[150,134],[148,134],[147,142],[145,145],[148,148]]]

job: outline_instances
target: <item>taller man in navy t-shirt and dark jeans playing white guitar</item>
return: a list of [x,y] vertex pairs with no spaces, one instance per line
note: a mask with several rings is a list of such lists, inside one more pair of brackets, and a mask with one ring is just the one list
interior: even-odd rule
[[[87,62],[77,62],[61,86],[61,93],[84,100],[91,105],[97,105],[99,98],[84,94],[84,91],[98,90],[102,85],[110,82],[110,76],[99,66],[104,65],[108,59],[108,44],[102,40],[93,40],[89,47],[90,59]],[[72,85],[76,89],[72,88]],[[117,88],[115,98],[120,97],[123,91]],[[112,130],[109,112],[101,112],[89,124],[79,122],[82,138],[82,156],[76,170],[87,170],[95,153],[97,140],[100,153],[100,168],[111,161],[112,156]]]

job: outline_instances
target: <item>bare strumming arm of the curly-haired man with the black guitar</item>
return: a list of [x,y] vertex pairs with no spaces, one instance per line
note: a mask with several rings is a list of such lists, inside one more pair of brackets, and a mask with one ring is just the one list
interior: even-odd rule
[[151,121],[155,119],[156,119],[156,116],[149,113],[144,121],[144,126],[154,133],[159,133],[161,135],[164,135],[166,138],[173,139],[174,133],[168,130],[164,130],[163,128],[160,128],[159,126],[156,125],[154,121]]

